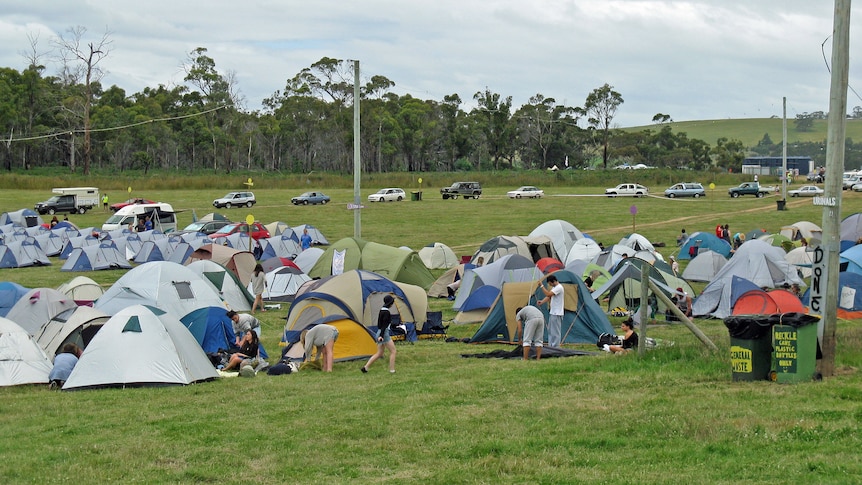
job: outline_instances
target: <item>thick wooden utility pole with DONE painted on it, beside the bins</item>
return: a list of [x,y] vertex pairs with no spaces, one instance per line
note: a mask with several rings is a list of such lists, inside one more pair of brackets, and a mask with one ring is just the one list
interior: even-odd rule
[[[832,83],[829,88],[829,126],[826,135],[826,181],[823,206],[822,274],[812,276],[812,295],[822,295],[820,331],[823,359],[820,373],[835,373],[835,330],[838,318],[838,257],[841,235],[841,174],[847,118],[847,78],[850,64],[850,0],[835,0],[832,26]],[[817,201],[815,201],[817,202]],[[815,267],[821,269],[820,267]],[[825,291],[818,288],[825,282]]]

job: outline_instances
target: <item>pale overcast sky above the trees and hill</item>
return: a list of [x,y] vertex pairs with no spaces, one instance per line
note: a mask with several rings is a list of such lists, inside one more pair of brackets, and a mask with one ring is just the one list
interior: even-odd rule
[[[70,27],[87,42],[110,32],[100,67],[105,87],[128,95],[184,77],[204,47],[236,74],[246,108],[281,90],[322,57],[359,60],[362,80],[382,75],[393,91],[464,109],[485,87],[519,107],[537,93],[583,106],[612,85],[625,100],[619,126],[761,118],[828,111],[833,2],[828,0],[4,0],[0,66],[23,70],[32,52],[47,75],[51,40]],[[850,85],[858,15],[851,19]],[[856,42],[854,43],[854,39]],[[858,83],[862,87],[862,82]],[[860,90],[862,91],[862,90]],[[853,92],[848,112],[862,105]]]

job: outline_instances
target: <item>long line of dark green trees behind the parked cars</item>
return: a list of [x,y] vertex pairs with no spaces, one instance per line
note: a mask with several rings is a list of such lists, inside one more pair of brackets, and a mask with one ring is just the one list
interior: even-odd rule
[[[64,167],[89,174],[151,168],[231,172],[353,167],[353,63],[324,57],[285,81],[259,110],[244,107],[236,75],[222,73],[207,49],[191,51],[183,84],[127,94],[104,87],[110,34],[86,42],[78,27],[52,40],[60,68],[46,73],[35,40],[23,71],[0,68],[0,129],[6,170]],[[360,156],[366,172],[563,169],[620,163],[738,171],[751,153],[738,140],[714,145],[674,133],[670,115],[637,133],[614,127],[624,103],[613,86],[583,106],[542,94],[513,106],[489,88],[467,109],[458,94],[425,100],[392,92],[382,75],[360,96]],[[770,151],[767,144],[755,150]],[[810,148],[810,147],[809,147]],[[811,154],[811,153],[806,153]]]

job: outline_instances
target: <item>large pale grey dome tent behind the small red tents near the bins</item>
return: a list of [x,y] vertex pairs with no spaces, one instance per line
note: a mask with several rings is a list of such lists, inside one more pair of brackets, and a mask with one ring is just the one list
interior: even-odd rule
[[796,267],[784,259],[784,254],[784,250],[762,239],[746,241],[694,300],[692,314],[716,318],[730,315],[732,278],[746,279],[758,288],[776,288],[785,283],[803,285]]

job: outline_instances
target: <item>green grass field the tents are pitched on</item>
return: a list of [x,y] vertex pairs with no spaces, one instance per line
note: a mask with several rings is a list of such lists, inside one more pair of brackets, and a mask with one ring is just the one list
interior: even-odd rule
[[[472,179],[472,177],[469,177]],[[364,197],[382,186],[375,180]],[[451,180],[449,181],[451,182]],[[511,183],[510,183],[511,182]],[[414,249],[433,241],[471,254],[485,240],[526,235],[564,219],[605,245],[635,231],[671,254],[689,233],[728,223],[731,232],[777,231],[801,220],[820,224],[809,199],[727,197],[730,183],[699,200],[608,199],[600,185],[563,184],[541,200],[508,200],[510,185],[483,180],[479,200],[440,199],[426,181],[422,201],[365,203],[362,237]],[[76,183],[75,185],[86,185]],[[119,184],[118,184],[119,185]],[[196,185],[194,183],[190,185]],[[255,187],[251,210],[220,212],[240,220],[313,224],[335,241],[353,235],[352,190],[323,189],[326,206],[294,207],[302,189]],[[285,184],[288,185],[288,184]],[[121,185],[122,186],[122,185]],[[302,184],[299,185],[302,187]],[[348,185],[349,186],[349,185]],[[650,186],[660,193],[664,187]],[[309,187],[317,189],[320,187]],[[137,190],[137,189],[136,189]],[[158,189],[141,195],[192,213],[211,211],[225,190]],[[844,216],[862,210],[862,194],[844,194]],[[43,189],[7,188],[2,210],[32,207]],[[119,194],[112,201],[120,200]],[[632,216],[632,207],[637,215]],[[106,214],[72,216],[101,225]],[[0,270],[0,280],[56,287],[76,276],[43,268]],[[110,285],[121,272],[86,273]],[[702,287],[698,286],[700,289]],[[451,302],[433,300],[449,320]],[[277,353],[286,311],[261,314],[263,342]],[[612,319],[616,326],[619,319]],[[779,385],[734,382],[721,321],[696,323],[718,346],[710,353],[681,325],[648,328],[672,341],[636,354],[518,360],[466,359],[499,345],[420,341],[399,345],[398,372],[359,362],[254,379],[221,379],[181,388],[51,392],[0,389],[0,482],[17,483],[858,483],[862,480],[862,325],[840,321],[836,376]],[[452,326],[469,337],[476,325]],[[589,347],[583,349],[593,350]]]

